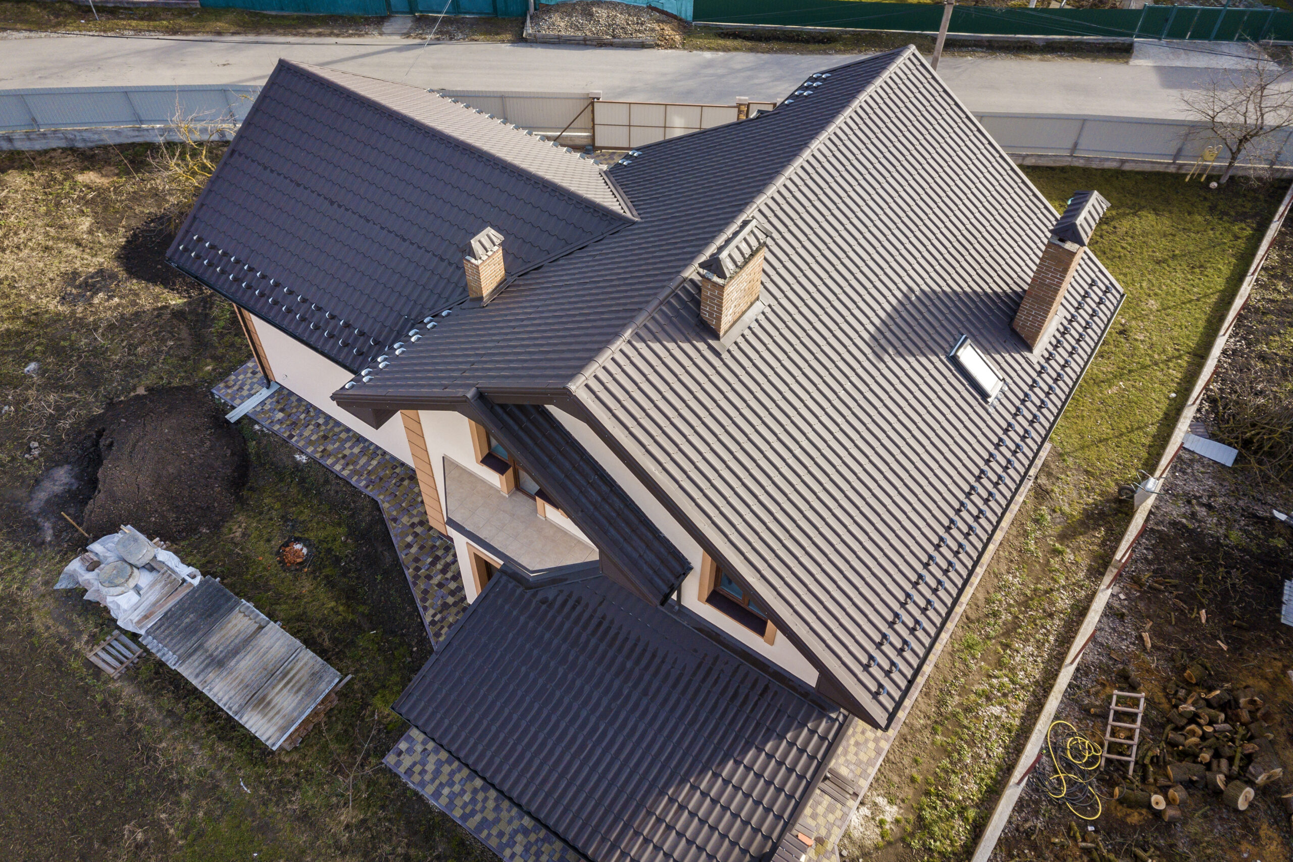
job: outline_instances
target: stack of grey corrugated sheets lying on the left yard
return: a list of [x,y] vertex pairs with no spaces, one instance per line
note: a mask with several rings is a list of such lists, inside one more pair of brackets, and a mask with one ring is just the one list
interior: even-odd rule
[[341,677],[211,578],[149,625],[144,645],[274,751],[299,742]]

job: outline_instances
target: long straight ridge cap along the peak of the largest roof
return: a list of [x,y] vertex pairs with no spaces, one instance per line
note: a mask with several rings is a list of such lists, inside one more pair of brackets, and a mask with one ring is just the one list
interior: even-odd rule
[[[782,185],[785,185],[786,180],[790,178],[790,174],[794,173],[800,164],[808,160],[808,158],[817,150],[821,142],[829,138],[835,132],[835,129],[839,128],[844,118],[852,114],[857,109],[857,106],[861,105],[866,100],[866,97],[875,90],[875,88],[881,84],[881,81],[887,79],[893,72],[893,70],[897,68],[899,65],[901,65],[909,57],[912,57],[913,54],[919,56],[914,45],[906,45],[905,48],[895,48],[893,50],[887,53],[896,54],[893,61],[890,62],[888,67],[886,67],[884,71],[882,71],[870,83],[868,83],[866,87],[864,87],[861,92],[857,93],[857,96],[850,100],[848,105],[846,105],[839,112],[837,112],[835,116],[831,118],[830,121],[826,123],[821,128],[821,131],[817,132],[817,134],[815,134],[812,140],[808,141],[808,143],[806,143],[803,149],[798,154],[795,154],[795,156],[790,159],[790,162],[787,162],[781,171],[777,172],[777,176],[775,176],[772,180],[768,181],[768,185],[764,186],[759,191],[759,194],[756,194],[754,199],[741,209],[740,213],[737,213],[737,216],[728,224],[728,226],[720,230],[718,235],[705,248],[702,248],[687,266],[683,268],[683,271],[680,271],[665,289],[662,289],[659,293],[652,297],[652,300],[646,304],[646,306],[643,308],[643,310],[639,311],[637,315],[634,317],[634,319],[630,321],[628,324],[625,326],[625,328],[621,330],[614,339],[610,340],[610,344],[599,350],[597,355],[590,359],[587,364],[584,364],[584,367],[581,368],[574,375],[574,377],[570,379],[570,381],[566,384],[566,389],[574,392],[581,386],[583,386],[588,380],[591,380],[597,373],[597,371],[601,367],[604,367],[606,362],[613,355],[615,355],[615,353],[618,353],[625,344],[628,342],[628,340],[634,336],[634,333],[636,333],[637,330],[640,330],[643,326],[645,326],[646,322],[656,315],[656,311],[658,311],[665,305],[665,302],[667,302],[668,299],[678,292],[678,288],[681,287],[683,282],[685,282],[696,273],[696,269],[701,265],[701,262],[711,257],[719,249],[719,247],[727,240],[727,238],[740,229],[742,222],[754,216],[754,211],[758,209],[758,207],[763,204],[764,200],[771,198]],[[875,54],[871,57],[853,61],[852,63],[844,63],[843,66],[837,66],[835,68],[846,68],[847,66],[853,66],[857,63],[874,62],[875,59],[883,56],[884,56],[883,53]]]

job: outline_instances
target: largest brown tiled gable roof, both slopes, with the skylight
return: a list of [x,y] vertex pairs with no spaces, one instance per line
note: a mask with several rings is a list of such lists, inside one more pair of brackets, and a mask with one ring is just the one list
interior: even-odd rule
[[[1043,371],[1010,323],[1055,211],[910,48],[612,176],[639,224],[462,306],[334,398],[557,399],[753,588],[824,691],[888,725],[1121,288],[1084,257],[1049,339],[1071,364]],[[719,349],[694,271],[750,218],[767,308]],[[1007,381],[992,403],[946,358],[963,335]]]

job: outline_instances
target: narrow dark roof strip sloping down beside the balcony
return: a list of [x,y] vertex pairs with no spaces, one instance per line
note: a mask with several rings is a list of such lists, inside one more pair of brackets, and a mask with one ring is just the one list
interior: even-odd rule
[[490,432],[612,558],[609,576],[657,605],[678,589],[692,563],[547,407],[484,397],[475,405]]

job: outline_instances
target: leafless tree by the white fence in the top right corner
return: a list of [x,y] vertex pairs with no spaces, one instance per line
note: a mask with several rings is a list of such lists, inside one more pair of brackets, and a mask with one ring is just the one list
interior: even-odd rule
[[1181,101],[1226,145],[1230,160],[1222,182],[1230,180],[1241,155],[1270,143],[1268,138],[1276,132],[1293,128],[1293,87],[1288,70],[1271,61],[1218,68],[1200,89],[1183,94]]

